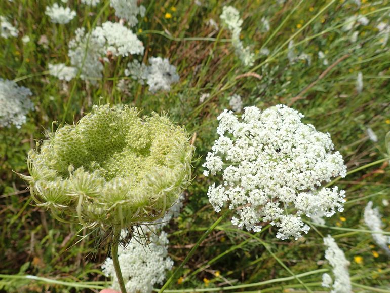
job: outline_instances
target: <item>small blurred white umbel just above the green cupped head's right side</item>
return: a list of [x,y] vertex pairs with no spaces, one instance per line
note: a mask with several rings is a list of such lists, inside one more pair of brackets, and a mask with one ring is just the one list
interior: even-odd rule
[[179,81],[180,77],[176,73],[176,67],[169,64],[168,58],[150,57],[149,64],[146,79],[149,91],[169,91],[171,84]]

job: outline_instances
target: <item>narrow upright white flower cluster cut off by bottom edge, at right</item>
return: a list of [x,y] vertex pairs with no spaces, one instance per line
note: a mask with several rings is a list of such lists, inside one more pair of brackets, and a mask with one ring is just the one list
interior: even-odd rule
[[349,262],[345,258],[344,252],[330,235],[324,238],[324,244],[327,246],[325,259],[333,267],[334,283],[332,284],[332,277],[325,273],[322,276],[322,286],[332,287],[331,293],[352,293],[348,272]]

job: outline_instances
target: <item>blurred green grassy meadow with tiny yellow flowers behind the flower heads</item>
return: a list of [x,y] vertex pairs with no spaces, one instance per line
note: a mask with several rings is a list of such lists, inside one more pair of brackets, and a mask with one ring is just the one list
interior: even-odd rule
[[[27,172],[27,152],[47,130],[80,120],[99,102],[136,106],[145,115],[165,110],[172,121],[185,126],[200,159],[193,163],[194,179],[185,191],[183,209],[166,229],[169,255],[177,267],[219,216],[206,193],[220,178],[204,177],[201,165],[217,138],[216,117],[230,108],[229,97],[239,94],[244,106],[294,107],[305,115],[305,123],[331,134],[348,171],[362,168],[338,181],[346,191],[345,210],[328,218],[326,227],[311,225],[299,240],[280,241],[275,228],[248,233],[232,226],[229,215],[201,243],[169,289],[212,291],[234,285],[231,292],[329,291],[321,287],[321,275],[331,270],[323,245],[323,237],[330,234],[350,261],[354,292],[390,292],[389,257],[376,246],[363,221],[371,200],[383,215],[384,230],[390,231],[390,174],[388,161],[381,160],[388,156],[385,135],[390,131],[388,1],[141,1],[146,14],[133,31],[145,52],[137,59],[169,58],[180,76],[170,91],[156,93],[125,76],[131,56],[105,62],[96,85],[49,75],[49,63],[69,64],[68,43],[77,28],[88,31],[107,20],[118,21],[104,1],[90,7],[68,0],[60,4],[75,10],[76,17],[68,24],[54,24],[44,13],[53,3],[0,2],[0,15],[19,31],[16,38],[0,38],[0,77],[29,88],[34,104],[20,129],[0,128],[0,291],[98,292],[109,286],[101,272],[108,245],[96,246],[93,238],[74,245],[80,227],[59,223],[34,206],[25,182],[15,173]],[[253,66],[244,66],[235,55],[231,34],[219,18],[226,5],[236,7],[244,20],[240,39],[256,56]],[[369,22],[349,25],[350,17],[357,15]],[[387,28],[378,28],[380,23]],[[30,40],[25,43],[26,35]],[[292,54],[307,56],[291,61]],[[357,86],[359,72],[362,88]],[[203,94],[209,96],[201,102]],[[300,281],[294,277],[316,270],[320,271]],[[277,280],[267,282],[273,279]]]

